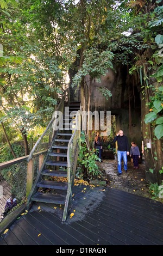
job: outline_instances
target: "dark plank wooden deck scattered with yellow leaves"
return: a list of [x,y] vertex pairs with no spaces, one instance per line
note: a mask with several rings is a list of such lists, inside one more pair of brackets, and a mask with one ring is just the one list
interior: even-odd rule
[[163,204],[110,187],[79,185],[73,192],[66,222],[61,206],[34,203],[0,245],[163,245]]

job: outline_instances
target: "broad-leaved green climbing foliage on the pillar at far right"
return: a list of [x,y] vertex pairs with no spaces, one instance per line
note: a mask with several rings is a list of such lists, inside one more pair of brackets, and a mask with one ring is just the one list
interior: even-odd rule
[[[154,17],[155,19],[158,18],[158,14],[162,14],[162,8],[156,7],[154,9]],[[157,18],[156,18],[157,17]],[[155,20],[154,20],[155,21]],[[161,25],[162,21],[160,21],[159,25]],[[159,26],[155,22],[149,22],[149,26]],[[135,71],[140,75],[140,83],[143,95],[146,96],[146,105],[149,108],[150,113],[146,114],[145,123],[152,124],[154,126],[154,135],[156,138],[161,139],[163,136],[163,123],[162,123],[162,112],[163,112],[163,97],[162,86],[154,87],[152,84],[149,84],[150,78],[155,78],[155,80],[159,83],[162,82],[163,77],[163,54],[162,54],[162,46],[163,46],[163,36],[161,34],[157,34],[155,38],[151,38],[151,47],[155,52],[149,58],[148,62],[146,59],[141,59],[139,56],[135,57],[136,65],[133,65],[130,70],[129,74],[134,74]],[[161,50],[159,50],[161,49]],[[151,66],[149,66],[151,65]],[[148,67],[148,68],[146,68]],[[149,74],[149,71],[154,71],[152,75]],[[148,72],[148,73],[147,73]],[[153,96],[147,96],[148,90],[152,90]],[[144,98],[143,98],[144,99]]]

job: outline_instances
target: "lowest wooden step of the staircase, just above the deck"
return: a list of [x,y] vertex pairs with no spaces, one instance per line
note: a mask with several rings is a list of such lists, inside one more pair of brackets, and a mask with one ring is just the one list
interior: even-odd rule
[[52,193],[41,193],[37,192],[32,197],[33,201],[43,202],[43,203],[52,203],[52,204],[65,204],[65,196],[61,196],[60,194],[52,194]]

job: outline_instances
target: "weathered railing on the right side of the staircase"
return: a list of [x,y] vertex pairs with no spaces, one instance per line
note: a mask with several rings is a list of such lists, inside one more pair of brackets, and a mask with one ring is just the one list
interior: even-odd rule
[[77,167],[77,160],[79,154],[79,146],[78,141],[80,137],[80,130],[81,130],[81,112],[78,111],[76,114],[76,127],[73,131],[73,134],[68,142],[68,149],[67,149],[67,180],[68,180],[68,189],[64,207],[64,213],[62,216],[62,222],[66,221],[66,217],[68,214],[68,210],[72,204],[72,187],[74,184],[74,176],[76,173]]

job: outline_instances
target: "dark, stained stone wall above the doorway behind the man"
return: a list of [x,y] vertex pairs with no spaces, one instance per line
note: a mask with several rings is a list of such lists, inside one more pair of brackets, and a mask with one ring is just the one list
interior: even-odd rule
[[[85,81],[89,87],[89,76]],[[99,87],[106,87],[110,90],[112,96],[105,99],[99,93]],[[130,88],[130,126],[129,126],[129,94]],[[131,89],[132,85],[128,81],[126,66],[118,66],[116,72],[108,69],[105,77],[101,78],[101,83],[92,81],[91,92],[91,111],[111,111],[111,115],[116,116],[116,131],[120,129],[124,131],[124,135],[128,137],[129,147],[131,141],[135,141],[141,150],[141,105],[139,92]],[[134,97],[135,96],[135,97]]]

